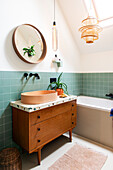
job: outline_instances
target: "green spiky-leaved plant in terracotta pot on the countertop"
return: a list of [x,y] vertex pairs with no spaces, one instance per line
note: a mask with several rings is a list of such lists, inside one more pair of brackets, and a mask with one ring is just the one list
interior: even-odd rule
[[52,82],[49,84],[47,90],[55,89],[58,95],[62,95],[63,93],[66,93],[68,95],[67,85],[65,83],[61,83],[62,74],[63,72],[58,76],[58,80],[56,82]]

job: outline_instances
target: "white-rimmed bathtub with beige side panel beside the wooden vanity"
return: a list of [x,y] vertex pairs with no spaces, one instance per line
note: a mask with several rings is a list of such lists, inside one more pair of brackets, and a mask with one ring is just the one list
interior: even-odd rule
[[77,126],[73,132],[113,148],[113,100],[79,96]]

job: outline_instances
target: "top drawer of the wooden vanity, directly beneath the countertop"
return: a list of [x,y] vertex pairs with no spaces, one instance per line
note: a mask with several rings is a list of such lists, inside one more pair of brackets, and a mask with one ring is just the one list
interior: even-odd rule
[[67,111],[76,112],[76,101],[66,102],[30,113],[30,126]]

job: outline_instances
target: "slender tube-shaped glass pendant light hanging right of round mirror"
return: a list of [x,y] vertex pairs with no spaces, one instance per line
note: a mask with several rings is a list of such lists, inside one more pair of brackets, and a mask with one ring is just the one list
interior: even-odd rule
[[52,49],[57,51],[58,49],[58,37],[57,37],[57,28],[56,28],[56,21],[55,21],[55,0],[54,0],[54,21],[52,27]]

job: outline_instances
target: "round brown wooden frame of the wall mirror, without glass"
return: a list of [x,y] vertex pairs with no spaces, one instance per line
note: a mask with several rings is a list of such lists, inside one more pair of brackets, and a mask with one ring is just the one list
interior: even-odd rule
[[[44,36],[42,35],[42,33],[41,33],[35,26],[33,26],[33,25],[31,25],[31,24],[22,24],[22,25],[31,26],[32,28],[34,28],[34,29],[40,34],[40,37],[41,37],[42,42],[43,42],[43,52],[42,52],[42,55],[40,56],[40,58],[39,58],[39,59],[37,60],[37,62],[35,62],[35,63],[26,60],[26,59],[23,57],[23,55],[21,55],[21,53],[18,51],[17,46],[16,46],[16,43],[15,43],[15,34],[16,34],[16,30],[17,30],[17,28],[18,28],[19,26],[16,27],[16,29],[15,29],[14,32],[13,32],[13,36],[12,36],[12,43],[13,43],[14,50],[15,50],[16,54],[18,55],[18,57],[19,57],[21,60],[23,60],[24,62],[29,63],[29,64],[38,64],[38,63],[40,63],[40,62],[45,58],[46,53],[47,53],[47,45],[46,45],[46,41],[45,41],[45,39],[44,39]],[[20,25],[20,26],[21,26],[21,25]]]

